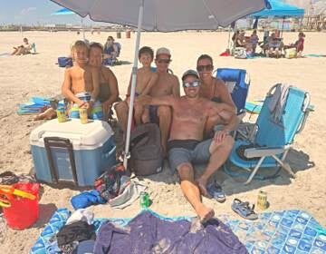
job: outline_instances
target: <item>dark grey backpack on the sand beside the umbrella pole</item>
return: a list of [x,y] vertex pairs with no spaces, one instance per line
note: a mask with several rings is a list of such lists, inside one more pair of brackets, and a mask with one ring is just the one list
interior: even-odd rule
[[131,171],[146,176],[162,171],[163,150],[160,132],[155,123],[145,123],[136,127],[130,136]]

